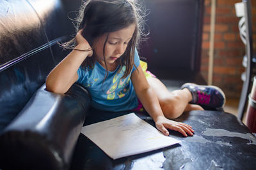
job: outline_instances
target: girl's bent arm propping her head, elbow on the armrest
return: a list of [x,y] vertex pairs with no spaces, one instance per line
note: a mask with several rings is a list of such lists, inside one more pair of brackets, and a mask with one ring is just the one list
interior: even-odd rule
[[[87,50],[90,49],[89,43],[81,35],[81,31],[76,35],[77,46],[75,49]],[[92,50],[88,52],[72,50],[60,64],[58,64],[46,78],[46,89],[64,94],[78,79],[77,70],[81,66],[86,57],[92,56]]]

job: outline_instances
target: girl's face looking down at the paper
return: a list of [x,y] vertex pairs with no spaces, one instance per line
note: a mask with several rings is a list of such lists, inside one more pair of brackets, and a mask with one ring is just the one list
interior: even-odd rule
[[104,63],[103,47],[107,35],[108,40],[106,41],[105,46],[105,59],[109,71],[111,71],[111,68],[115,69],[115,61],[125,52],[127,45],[132,38],[134,30],[135,24],[132,24],[128,27],[125,27],[124,29],[120,29],[115,32],[109,32],[109,35],[107,33],[103,34],[97,39],[97,41],[95,41],[96,44],[94,53],[100,65],[106,68]]

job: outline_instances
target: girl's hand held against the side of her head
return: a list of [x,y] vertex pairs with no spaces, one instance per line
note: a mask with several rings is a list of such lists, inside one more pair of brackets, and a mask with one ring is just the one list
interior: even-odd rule
[[79,30],[76,34],[76,42],[77,46],[76,49],[79,50],[88,50],[88,57],[92,57],[93,55],[93,50],[88,41],[82,36],[82,31],[83,29]]

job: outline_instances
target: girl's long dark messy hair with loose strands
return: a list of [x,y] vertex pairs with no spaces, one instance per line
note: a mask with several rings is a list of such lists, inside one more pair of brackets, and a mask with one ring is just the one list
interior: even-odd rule
[[[104,62],[106,66],[106,77],[108,67],[105,60],[105,46],[108,41],[109,32],[124,29],[135,24],[135,31],[129,41],[124,54],[116,60],[121,66],[125,66],[125,78],[131,73],[134,65],[134,50],[138,48],[144,29],[145,8],[141,0],[88,0],[81,6],[79,15],[76,18],[76,31],[83,29],[82,36],[88,41],[93,50],[94,41],[103,34],[107,34],[103,47]],[[76,38],[63,44],[64,48],[74,48],[77,45]],[[93,52],[93,55],[95,53]],[[95,64],[95,57],[86,57],[81,65],[84,69],[92,69]]]

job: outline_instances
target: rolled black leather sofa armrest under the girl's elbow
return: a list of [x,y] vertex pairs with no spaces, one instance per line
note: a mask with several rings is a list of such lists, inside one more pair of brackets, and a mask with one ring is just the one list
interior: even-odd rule
[[38,89],[0,136],[0,168],[68,169],[90,95],[74,84],[66,94]]

